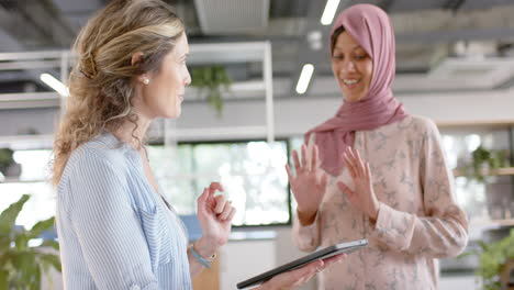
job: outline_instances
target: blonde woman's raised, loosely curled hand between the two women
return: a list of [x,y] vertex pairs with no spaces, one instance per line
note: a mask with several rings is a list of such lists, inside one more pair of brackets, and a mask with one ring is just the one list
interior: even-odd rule
[[194,243],[194,248],[208,255],[226,244],[232,219],[236,212],[223,194],[214,197],[216,190],[223,191],[223,187],[219,182],[212,182],[197,200],[197,215],[202,227],[202,237]]

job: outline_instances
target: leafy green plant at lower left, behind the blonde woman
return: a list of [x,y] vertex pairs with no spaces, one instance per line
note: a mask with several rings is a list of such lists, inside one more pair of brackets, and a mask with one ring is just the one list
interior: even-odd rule
[[[14,222],[23,204],[30,199],[24,194],[0,214],[0,289],[41,289],[41,274],[51,267],[60,271],[60,260],[55,254],[42,253],[30,247],[29,241],[52,228],[54,217],[36,223],[30,231],[15,230]],[[43,246],[59,249],[55,241],[45,241]]]

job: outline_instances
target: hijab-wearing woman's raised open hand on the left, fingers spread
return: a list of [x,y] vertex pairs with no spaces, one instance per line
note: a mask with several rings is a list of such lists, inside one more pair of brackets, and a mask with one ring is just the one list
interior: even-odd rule
[[[289,182],[298,203],[300,221],[311,221],[316,214],[326,190],[326,174],[319,166],[319,149],[313,146],[311,161],[308,163],[306,146],[302,145],[302,159],[300,161],[297,150],[293,150],[293,164],[297,176],[293,176],[289,165],[286,165]],[[303,216],[303,219],[302,219]],[[309,223],[309,222],[308,222]],[[305,223],[304,223],[305,224]]]

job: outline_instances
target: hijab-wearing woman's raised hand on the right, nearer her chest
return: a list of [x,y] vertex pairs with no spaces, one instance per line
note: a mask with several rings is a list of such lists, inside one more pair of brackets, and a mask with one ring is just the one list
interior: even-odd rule
[[364,161],[359,152],[351,147],[346,148],[343,157],[354,179],[355,190],[340,181],[337,182],[337,187],[346,193],[351,204],[360,209],[371,221],[377,221],[380,202],[375,194],[369,163]]

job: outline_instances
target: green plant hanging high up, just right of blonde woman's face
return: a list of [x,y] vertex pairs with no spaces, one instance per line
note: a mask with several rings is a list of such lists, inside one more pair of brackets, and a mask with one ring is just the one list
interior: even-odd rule
[[195,67],[191,72],[191,86],[199,89],[199,96],[206,90],[206,100],[221,116],[223,111],[222,87],[230,89],[231,78],[223,66]]

